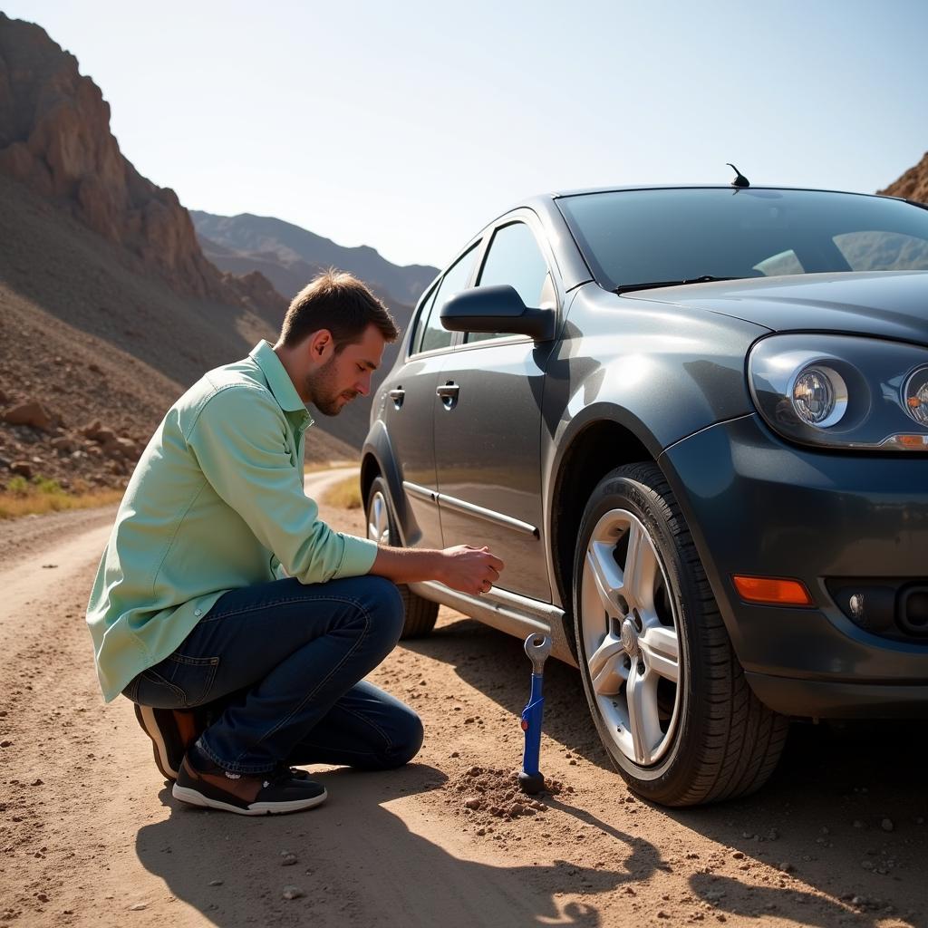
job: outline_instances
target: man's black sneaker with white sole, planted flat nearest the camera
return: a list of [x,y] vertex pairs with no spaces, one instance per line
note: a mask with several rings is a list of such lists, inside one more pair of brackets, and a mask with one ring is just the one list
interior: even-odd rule
[[194,745],[181,763],[172,789],[174,799],[190,806],[225,809],[238,815],[276,815],[301,812],[325,802],[321,783],[297,779],[288,768],[246,775],[230,773],[213,764]]

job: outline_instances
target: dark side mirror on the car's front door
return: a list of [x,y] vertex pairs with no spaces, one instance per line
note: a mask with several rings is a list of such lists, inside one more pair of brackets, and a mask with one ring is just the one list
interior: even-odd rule
[[453,296],[439,314],[452,332],[514,332],[535,342],[554,338],[557,314],[553,309],[531,309],[509,284],[474,287]]

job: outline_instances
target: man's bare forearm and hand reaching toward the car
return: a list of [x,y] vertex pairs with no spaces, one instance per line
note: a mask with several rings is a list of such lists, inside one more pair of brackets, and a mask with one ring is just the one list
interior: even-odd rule
[[434,551],[380,545],[370,573],[397,584],[437,580],[462,593],[479,596],[496,583],[503,567],[489,548],[456,545]]

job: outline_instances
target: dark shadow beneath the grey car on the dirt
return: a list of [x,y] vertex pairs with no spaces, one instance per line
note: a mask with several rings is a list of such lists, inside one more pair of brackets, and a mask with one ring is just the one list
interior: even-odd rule
[[[513,716],[521,713],[531,665],[518,638],[462,617],[403,645],[452,665]],[[545,665],[544,730],[612,772],[579,671],[555,660]],[[780,766],[757,793],[714,806],[651,807],[718,845],[726,874],[717,872],[723,869],[718,861],[699,861],[690,878],[693,894],[715,909],[761,918],[800,905],[810,925],[852,919],[875,926],[890,916],[928,924],[926,766],[928,721],[794,722]],[[591,816],[579,809],[571,814]],[[745,874],[743,882],[729,872],[732,865]],[[769,888],[754,883],[752,872],[761,871]],[[841,901],[810,894],[804,884]]]

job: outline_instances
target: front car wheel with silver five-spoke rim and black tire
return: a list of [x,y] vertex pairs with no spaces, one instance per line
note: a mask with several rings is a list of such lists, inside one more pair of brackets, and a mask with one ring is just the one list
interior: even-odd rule
[[589,497],[574,625],[599,737],[635,793],[696,806],[767,781],[788,720],[748,685],[656,464],[612,470]]

